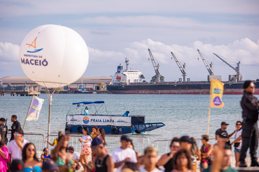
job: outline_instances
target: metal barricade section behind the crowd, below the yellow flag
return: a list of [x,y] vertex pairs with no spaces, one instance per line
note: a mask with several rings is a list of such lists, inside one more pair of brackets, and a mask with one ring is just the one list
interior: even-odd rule
[[[229,140],[230,140],[230,143],[232,143],[234,141],[234,138],[229,138]],[[167,154],[167,153],[170,152],[171,141],[172,141],[172,139],[171,140],[155,140],[152,143],[152,146],[157,148],[158,155]],[[200,149],[202,147],[201,139],[196,139],[196,143],[197,143],[198,148]],[[211,145],[214,145],[214,144],[217,143],[217,140],[215,138],[212,138],[212,139],[209,140],[209,143]],[[250,152],[250,150],[248,149],[247,152]],[[258,155],[259,155],[259,149],[257,149],[257,157],[258,157]],[[251,158],[249,153],[246,154],[246,157]],[[234,145],[232,145],[231,166],[235,166],[235,163],[236,163],[236,161],[235,161]],[[200,164],[200,162],[197,162],[197,165],[198,164]]]

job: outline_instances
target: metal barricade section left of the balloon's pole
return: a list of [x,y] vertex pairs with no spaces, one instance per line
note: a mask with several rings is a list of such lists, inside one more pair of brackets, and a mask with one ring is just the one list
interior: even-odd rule
[[[7,133],[7,136],[8,136],[7,137],[8,140],[10,140],[11,133]],[[40,155],[43,153],[43,149],[44,149],[45,136],[43,134],[24,133],[23,138],[34,144],[36,149],[36,156],[40,158]],[[7,146],[8,146],[8,143],[7,143]]]

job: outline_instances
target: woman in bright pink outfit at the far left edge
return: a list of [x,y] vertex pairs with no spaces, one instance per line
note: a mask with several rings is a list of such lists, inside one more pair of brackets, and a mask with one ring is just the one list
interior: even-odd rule
[[0,172],[8,171],[7,162],[9,162],[8,148],[5,143],[2,142],[0,135]]

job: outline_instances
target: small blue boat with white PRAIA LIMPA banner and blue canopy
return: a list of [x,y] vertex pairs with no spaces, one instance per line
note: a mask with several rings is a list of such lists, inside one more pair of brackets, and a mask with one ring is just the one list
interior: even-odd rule
[[[104,105],[104,106],[103,106]],[[165,126],[163,123],[145,123],[145,116],[128,115],[126,111],[123,115],[108,115],[104,101],[78,102],[72,103],[72,106],[78,111],[78,114],[67,113],[66,132],[82,133],[83,127],[91,127],[96,125],[98,128],[102,127],[106,134],[129,134],[129,133],[143,133]],[[84,114],[85,108],[88,108],[89,115]],[[105,114],[98,114],[100,108]],[[81,109],[81,112],[78,109]]]

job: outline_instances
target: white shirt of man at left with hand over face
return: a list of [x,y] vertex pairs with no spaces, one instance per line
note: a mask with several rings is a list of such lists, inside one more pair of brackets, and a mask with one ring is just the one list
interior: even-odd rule
[[[21,145],[24,147],[27,143],[30,143],[28,140],[23,139]],[[22,160],[22,152],[20,147],[17,146],[16,141],[13,139],[8,144],[8,152],[12,154],[12,158]]]

